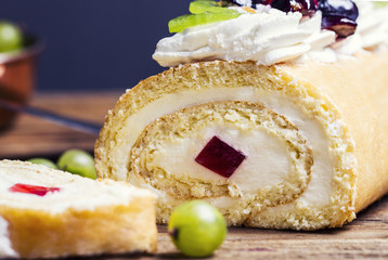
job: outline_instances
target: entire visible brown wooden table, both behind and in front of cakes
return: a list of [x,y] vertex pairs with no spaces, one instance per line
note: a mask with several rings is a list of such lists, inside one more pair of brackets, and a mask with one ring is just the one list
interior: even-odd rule
[[[43,93],[36,95],[31,104],[102,123],[107,109],[114,106],[120,94]],[[67,148],[92,152],[95,138],[23,115],[14,128],[0,134],[0,159],[35,156],[56,158]],[[158,239],[156,255],[106,258],[184,259],[171,244],[166,226],[159,226]],[[388,196],[342,229],[292,232],[232,227],[212,259],[388,259]]]

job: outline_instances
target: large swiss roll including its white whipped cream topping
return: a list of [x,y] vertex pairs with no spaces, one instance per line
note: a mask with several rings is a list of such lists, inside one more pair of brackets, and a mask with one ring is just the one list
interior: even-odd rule
[[191,199],[229,225],[353,220],[388,191],[388,27],[370,26],[387,10],[348,1],[354,24],[322,29],[329,2],[308,15],[218,4],[241,15],[160,40],[154,58],[170,68],[108,112],[98,174],[154,191],[158,223]]

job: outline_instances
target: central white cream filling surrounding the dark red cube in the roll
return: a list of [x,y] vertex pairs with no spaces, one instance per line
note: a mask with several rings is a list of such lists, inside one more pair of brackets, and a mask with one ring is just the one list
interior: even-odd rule
[[284,141],[260,129],[241,131],[241,128],[233,126],[212,126],[202,129],[190,139],[169,140],[163,147],[158,147],[152,165],[163,168],[178,179],[190,177],[207,183],[222,183],[225,181],[224,177],[195,161],[196,155],[215,135],[246,156],[242,165],[228,179],[230,184],[235,184],[244,194],[256,194],[261,187],[282,183],[290,171]]

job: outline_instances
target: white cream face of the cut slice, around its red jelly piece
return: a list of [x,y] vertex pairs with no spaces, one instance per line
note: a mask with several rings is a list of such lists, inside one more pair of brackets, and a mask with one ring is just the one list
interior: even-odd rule
[[[139,196],[151,195],[148,191],[126,183],[99,182],[55,170],[43,174],[28,170],[26,167],[16,168],[18,167],[0,165],[0,205],[2,206],[62,213],[68,209],[94,210],[101,206],[129,205]],[[36,169],[41,171],[40,166]],[[61,191],[48,193],[44,196],[10,192],[10,187],[16,183],[55,186]]]

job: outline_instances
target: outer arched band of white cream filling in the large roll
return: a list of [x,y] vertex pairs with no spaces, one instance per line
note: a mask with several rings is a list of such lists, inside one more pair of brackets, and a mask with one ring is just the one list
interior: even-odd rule
[[[126,131],[122,131],[121,134],[127,135],[127,141],[117,142],[121,143],[121,146],[116,146],[116,151],[112,151],[112,156],[117,161],[113,166],[114,171],[118,174],[119,179],[126,180],[128,178],[130,181],[142,185],[133,176],[129,174],[127,177],[126,166],[128,165],[130,150],[147,125],[163,115],[174,113],[183,107],[234,100],[261,102],[274,112],[287,117],[288,120],[299,128],[312,147],[314,165],[312,167],[310,183],[297,200],[316,207],[331,204],[331,180],[334,173],[334,160],[329,154],[329,141],[322,125],[316,119],[310,118],[302,113],[298,105],[289,98],[280,93],[268,93],[255,87],[186,90],[166,94],[148,103],[127,119],[126,126],[122,129],[131,129],[131,133],[128,134]],[[282,154],[281,156],[277,155],[275,159],[277,160],[280,157],[283,157]],[[145,184],[145,186],[152,188],[150,184]],[[234,203],[233,198],[219,198],[219,200],[222,202],[218,205],[219,207],[229,207],[230,204]]]

